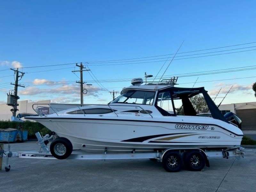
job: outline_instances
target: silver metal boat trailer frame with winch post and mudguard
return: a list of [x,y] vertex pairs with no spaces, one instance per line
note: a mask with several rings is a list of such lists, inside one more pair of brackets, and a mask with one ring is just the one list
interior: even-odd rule
[[[47,147],[47,144],[50,139],[52,139],[53,135],[49,136],[46,134],[44,137],[41,136],[39,132],[36,133],[37,144],[41,146],[39,151],[22,151],[22,152],[12,152],[10,143],[8,144],[7,150],[0,145],[0,159],[6,157],[5,162],[5,171],[8,172],[11,169],[9,164],[10,157],[19,157],[19,158],[30,158],[30,159],[56,159],[52,156],[50,150]],[[170,151],[175,150],[179,151],[180,154],[186,152],[186,150],[199,150],[201,151],[206,158],[206,166],[209,165],[208,157],[223,157],[229,158],[230,156],[235,157],[244,157],[244,148],[234,148],[228,150],[219,150],[219,151],[207,151],[199,148],[168,148],[164,151],[156,151],[152,153],[136,153],[135,149],[131,153],[107,153],[107,149],[102,154],[92,154],[86,153],[82,150],[73,150],[72,154],[68,156],[67,159],[81,159],[81,160],[114,160],[114,159],[155,159],[156,161],[162,162],[164,155]],[[0,163],[2,167],[2,164]]]

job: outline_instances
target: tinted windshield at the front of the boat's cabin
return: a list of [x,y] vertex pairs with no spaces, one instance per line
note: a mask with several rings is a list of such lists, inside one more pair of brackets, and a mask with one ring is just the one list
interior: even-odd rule
[[131,104],[144,104],[153,105],[155,92],[152,91],[124,91],[119,97],[111,103],[131,103]]

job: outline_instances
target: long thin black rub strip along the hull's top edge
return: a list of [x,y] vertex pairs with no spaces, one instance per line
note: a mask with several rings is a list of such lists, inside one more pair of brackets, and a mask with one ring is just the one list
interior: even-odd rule
[[233,133],[234,135],[237,136],[244,136],[244,135],[238,135],[232,131],[229,131],[228,129],[225,129],[224,127],[221,127],[220,125],[216,125],[216,124],[205,124],[205,123],[183,123],[183,122],[166,122],[166,121],[144,121],[144,120],[131,120],[131,119],[96,119],[96,118],[70,118],[70,117],[41,117],[41,118],[35,118],[35,117],[24,117],[25,119],[32,119],[35,120],[36,119],[83,119],[83,120],[109,120],[109,121],[135,121],[135,122],[153,122],[153,123],[176,123],[176,124],[196,124],[196,125],[214,125],[214,126],[218,126],[230,133]]

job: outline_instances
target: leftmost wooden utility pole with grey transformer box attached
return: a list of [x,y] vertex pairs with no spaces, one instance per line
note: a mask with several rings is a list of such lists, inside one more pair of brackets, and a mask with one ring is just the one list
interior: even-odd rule
[[[10,93],[7,94],[7,105],[12,106],[12,109],[11,109],[12,116],[16,117],[16,112],[18,111],[17,106],[19,105],[18,104],[18,99],[20,99],[20,97],[18,96],[18,87],[19,86],[20,87],[25,87],[23,85],[18,84],[18,81],[19,81],[19,77],[21,79],[25,73],[20,72],[19,68],[11,69],[11,70],[13,70],[14,74],[16,74],[16,78],[15,78],[15,83],[14,84],[11,83],[12,85],[14,85],[14,95],[12,95]],[[19,73],[21,73],[21,75],[19,75]]]

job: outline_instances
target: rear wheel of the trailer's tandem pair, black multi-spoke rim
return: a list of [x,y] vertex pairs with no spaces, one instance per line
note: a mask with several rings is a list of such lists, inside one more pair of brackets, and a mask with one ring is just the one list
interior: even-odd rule
[[190,171],[201,171],[205,166],[204,155],[200,151],[189,151],[185,154],[185,166]]

